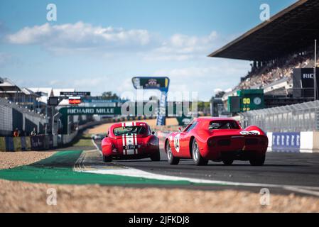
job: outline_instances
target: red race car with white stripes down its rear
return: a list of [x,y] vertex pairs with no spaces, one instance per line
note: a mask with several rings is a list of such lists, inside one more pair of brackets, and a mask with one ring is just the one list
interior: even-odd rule
[[144,122],[114,123],[102,140],[103,161],[151,157],[161,160],[158,138]]

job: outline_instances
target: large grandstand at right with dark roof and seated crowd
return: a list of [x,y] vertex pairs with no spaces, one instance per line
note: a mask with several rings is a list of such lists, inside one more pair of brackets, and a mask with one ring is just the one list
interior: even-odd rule
[[250,72],[223,96],[223,101],[240,89],[264,89],[266,95],[293,96],[293,69],[315,66],[318,24],[319,1],[300,0],[212,52],[209,57],[252,61]]

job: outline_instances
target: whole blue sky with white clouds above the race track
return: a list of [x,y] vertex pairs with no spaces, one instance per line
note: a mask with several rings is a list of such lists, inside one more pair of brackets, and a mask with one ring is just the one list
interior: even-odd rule
[[[294,0],[0,0],[0,77],[21,87],[133,91],[131,77],[168,76],[171,91],[208,100],[249,62],[206,57]],[[46,6],[57,6],[47,21]]]

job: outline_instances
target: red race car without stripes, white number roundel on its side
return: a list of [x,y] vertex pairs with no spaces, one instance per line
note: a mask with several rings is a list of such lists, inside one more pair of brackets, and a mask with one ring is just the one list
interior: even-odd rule
[[195,165],[208,160],[232,165],[234,160],[249,160],[264,165],[268,138],[256,126],[242,129],[232,118],[195,118],[183,131],[166,137],[168,162],[177,165],[180,158],[193,158]]

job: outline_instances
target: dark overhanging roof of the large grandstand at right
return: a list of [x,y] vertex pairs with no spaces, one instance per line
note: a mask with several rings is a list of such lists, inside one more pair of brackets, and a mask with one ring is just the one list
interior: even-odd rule
[[283,57],[313,45],[319,39],[318,24],[319,1],[299,0],[208,56],[259,61]]

